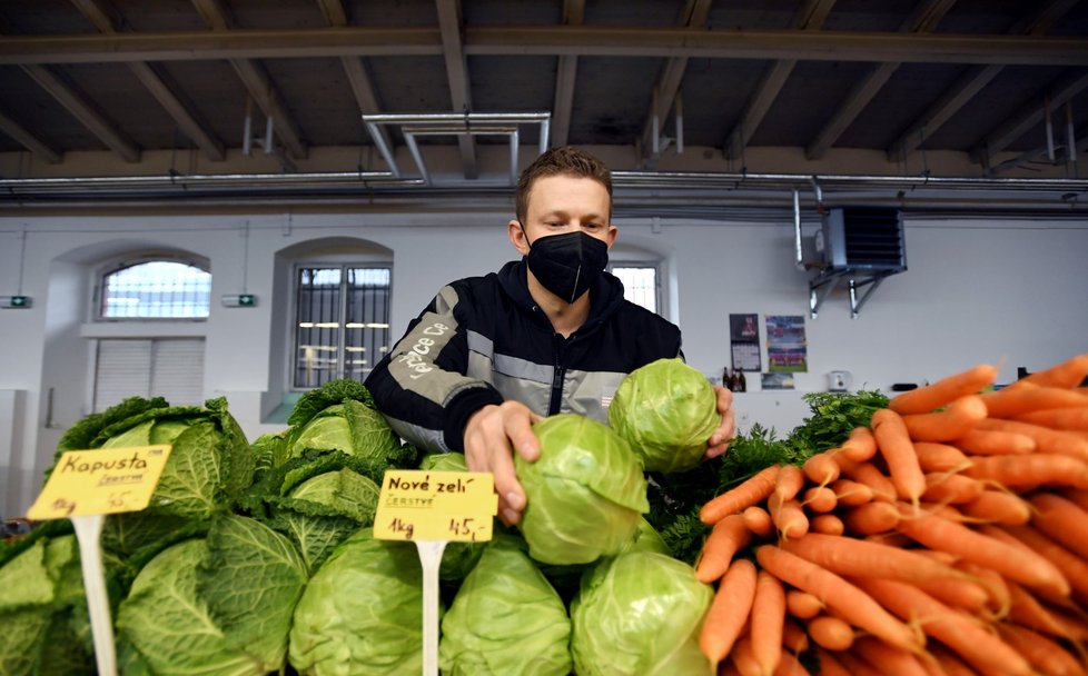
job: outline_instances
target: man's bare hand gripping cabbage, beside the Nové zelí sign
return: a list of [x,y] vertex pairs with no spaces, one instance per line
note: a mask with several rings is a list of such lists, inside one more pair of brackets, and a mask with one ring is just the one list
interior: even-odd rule
[[469,471],[489,471],[498,494],[498,518],[507,526],[522,519],[525,490],[514,473],[514,455],[533,463],[541,455],[541,443],[533,422],[541,420],[524,404],[504,401],[479,409],[465,425],[465,463]]

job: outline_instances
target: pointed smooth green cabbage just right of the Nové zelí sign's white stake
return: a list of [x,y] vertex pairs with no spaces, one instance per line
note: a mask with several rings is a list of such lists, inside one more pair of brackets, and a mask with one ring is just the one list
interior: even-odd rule
[[571,620],[563,600],[524,551],[500,535],[484,549],[442,619],[447,676],[566,676]]

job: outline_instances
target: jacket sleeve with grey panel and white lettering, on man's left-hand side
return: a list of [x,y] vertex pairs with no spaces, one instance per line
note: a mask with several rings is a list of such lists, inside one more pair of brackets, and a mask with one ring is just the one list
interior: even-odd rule
[[431,453],[463,450],[469,416],[503,401],[488,382],[465,375],[465,305],[457,287],[443,287],[365,381],[394,431]]

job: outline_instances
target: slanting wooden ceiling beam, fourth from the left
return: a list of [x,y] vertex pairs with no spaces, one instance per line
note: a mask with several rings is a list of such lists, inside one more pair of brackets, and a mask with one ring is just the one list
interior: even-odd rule
[[[220,0],[192,0],[192,4],[208,28],[211,29],[210,33],[205,33],[206,36],[217,38],[236,32],[233,30],[230,14]],[[205,57],[205,59],[208,58],[214,57]],[[309,153],[309,148],[301,139],[298,122],[287,111],[279,91],[273,84],[265,68],[251,58],[227,58],[246,89],[249,90],[249,96],[253,97],[254,102],[257,103],[266,118],[271,119],[273,131],[284,143],[287,153],[294,159],[305,158]]]

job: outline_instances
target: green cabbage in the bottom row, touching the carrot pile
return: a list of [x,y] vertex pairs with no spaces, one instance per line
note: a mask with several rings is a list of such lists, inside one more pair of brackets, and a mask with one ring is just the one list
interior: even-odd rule
[[710,676],[699,632],[714,590],[688,564],[629,551],[588,571],[571,603],[578,676]]

